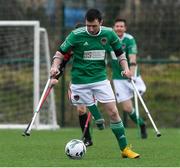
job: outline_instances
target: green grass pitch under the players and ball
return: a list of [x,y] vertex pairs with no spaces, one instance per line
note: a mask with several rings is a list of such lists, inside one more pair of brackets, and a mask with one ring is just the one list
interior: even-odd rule
[[168,167],[180,166],[180,130],[161,129],[157,138],[148,129],[149,137],[142,140],[137,129],[127,129],[128,142],[141,154],[140,159],[122,159],[117,142],[110,129],[93,130],[94,145],[89,147],[82,160],[71,160],[64,154],[65,144],[81,137],[80,129],[58,131],[32,131],[30,137],[22,137],[22,130],[0,131],[0,166],[16,167]]

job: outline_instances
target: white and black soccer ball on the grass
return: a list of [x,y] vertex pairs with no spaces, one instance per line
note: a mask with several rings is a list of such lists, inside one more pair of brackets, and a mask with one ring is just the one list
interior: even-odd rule
[[86,153],[83,141],[72,139],[66,144],[65,153],[70,159],[82,159]]

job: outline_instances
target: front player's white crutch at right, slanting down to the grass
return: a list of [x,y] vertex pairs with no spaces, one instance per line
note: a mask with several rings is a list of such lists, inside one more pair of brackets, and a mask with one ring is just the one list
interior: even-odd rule
[[135,90],[135,92],[136,92],[136,94],[137,94],[137,96],[138,96],[141,104],[142,104],[143,107],[144,107],[145,112],[147,113],[147,115],[148,115],[148,117],[149,117],[149,119],[150,119],[150,121],[151,121],[151,123],[152,123],[152,125],[153,125],[153,127],[154,127],[154,129],[155,129],[155,131],[156,131],[157,137],[160,137],[160,136],[161,136],[161,133],[160,133],[159,130],[157,129],[156,124],[154,123],[154,121],[153,121],[153,119],[152,119],[152,117],[151,117],[151,114],[150,114],[148,108],[146,107],[146,104],[144,103],[144,100],[142,99],[142,97],[141,97],[138,89],[136,88],[136,85],[135,85],[135,83],[134,83],[134,81],[133,81],[132,78],[131,78],[131,84],[133,85],[133,88],[134,88],[134,90]]

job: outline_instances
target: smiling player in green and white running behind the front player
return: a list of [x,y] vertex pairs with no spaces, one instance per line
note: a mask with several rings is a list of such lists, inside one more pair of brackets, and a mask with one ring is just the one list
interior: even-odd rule
[[[114,22],[114,31],[119,37],[123,51],[126,53],[126,58],[131,73],[133,74],[133,80],[135,81],[136,87],[139,92],[143,94],[146,91],[146,86],[140,76],[139,70],[137,69],[137,45],[134,37],[126,33],[127,25],[125,19],[116,19]],[[132,98],[134,96],[134,89],[130,80],[124,76],[121,76],[119,71],[122,71],[118,65],[117,58],[114,52],[112,55],[112,70],[113,70],[113,84],[115,89],[116,100],[121,103],[124,114],[129,114],[132,121],[139,124],[141,130],[141,138],[147,138],[146,125],[141,117],[137,119],[136,111],[133,106]]]

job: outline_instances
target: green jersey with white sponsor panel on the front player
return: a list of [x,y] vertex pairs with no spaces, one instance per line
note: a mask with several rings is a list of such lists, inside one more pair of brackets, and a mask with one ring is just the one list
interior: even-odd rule
[[60,52],[73,50],[71,78],[73,84],[87,84],[107,79],[105,53],[110,46],[121,48],[119,38],[112,28],[101,26],[97,35],[86,27],[73,30],[59,47]]

